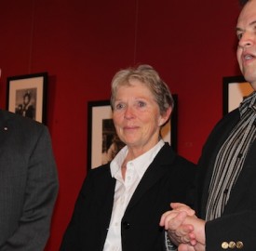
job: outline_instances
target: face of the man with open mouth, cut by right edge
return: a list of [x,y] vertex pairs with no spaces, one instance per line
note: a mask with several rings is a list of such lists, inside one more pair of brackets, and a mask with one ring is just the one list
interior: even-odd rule
[[236,25],[237,60],[245,79],[256,89],[256,0],[242,9]]

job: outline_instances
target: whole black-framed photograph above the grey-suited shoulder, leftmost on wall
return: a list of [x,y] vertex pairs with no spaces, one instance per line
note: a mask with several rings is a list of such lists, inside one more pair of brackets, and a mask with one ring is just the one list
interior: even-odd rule
[[47,73],[7,77],[7,110],[46,124]]

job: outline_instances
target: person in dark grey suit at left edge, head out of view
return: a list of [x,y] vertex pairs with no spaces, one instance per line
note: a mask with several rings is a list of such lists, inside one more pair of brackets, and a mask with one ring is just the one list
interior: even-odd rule
[[46,126],[0,110],[0,250],[44,250],[59,182]]

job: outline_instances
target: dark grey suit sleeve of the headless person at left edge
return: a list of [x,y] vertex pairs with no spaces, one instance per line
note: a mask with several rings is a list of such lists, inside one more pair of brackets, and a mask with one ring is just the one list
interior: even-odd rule
[[29,152],[19,226],[1,246],[1,251],[40,251],[47,243],[59,183],[47,127],[39,127],[36,139],[31,140],[34,147]]

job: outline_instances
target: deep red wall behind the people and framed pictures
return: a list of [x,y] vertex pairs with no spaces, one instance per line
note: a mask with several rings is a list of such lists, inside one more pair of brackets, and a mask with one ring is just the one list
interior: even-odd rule
[[238,0],[0,0],[0,107],[7,76],[47,72],[47,126],[60,177],[50,251],[58,250],[87,173],[87,102],[109,99],[116,71],[155,67],[179,95],[178,152],[196,162],[222,117],[236,64]]

